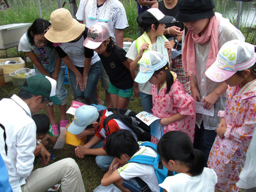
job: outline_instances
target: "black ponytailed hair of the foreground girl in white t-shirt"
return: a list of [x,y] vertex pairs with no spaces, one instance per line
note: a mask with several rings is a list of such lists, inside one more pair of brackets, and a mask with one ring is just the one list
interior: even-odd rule
[[189,136],[182,131],[170,131],[163,135],[157,144],[157,152],[164,161],[179,161],[188,166],[193,176],[200,175],[204,170],[205,156],[193,148]]

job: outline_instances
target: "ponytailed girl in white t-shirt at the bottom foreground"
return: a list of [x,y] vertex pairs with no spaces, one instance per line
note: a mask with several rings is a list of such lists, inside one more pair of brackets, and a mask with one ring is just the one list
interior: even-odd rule
[[168,170],[177,172],[159,184],[165,192],[214,191],[216,173],[204,168],[204,153],[193,148],[193,143],[184,132],[171,131],[164,134],[157,145],[157,151],[163,165]]

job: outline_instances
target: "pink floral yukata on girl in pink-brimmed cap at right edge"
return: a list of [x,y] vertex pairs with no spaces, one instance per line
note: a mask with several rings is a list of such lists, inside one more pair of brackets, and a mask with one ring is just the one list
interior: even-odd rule
[[228,86],[227,106],[218,113],[225,118],[227,129],[224,138],[216,136],[207,162],[218,175],[216,187],[220,191],[239,191],[236,183],[256,126],[256,80],[238,93],[236,89]]

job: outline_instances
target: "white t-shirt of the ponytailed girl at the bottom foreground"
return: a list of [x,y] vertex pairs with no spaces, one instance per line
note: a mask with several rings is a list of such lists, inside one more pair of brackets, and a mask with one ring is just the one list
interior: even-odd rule
[[191,177],[185,173],[169,176],[159,186],[168,192],[214,192],[218,177],[214,170],[204,168],[201,175]]

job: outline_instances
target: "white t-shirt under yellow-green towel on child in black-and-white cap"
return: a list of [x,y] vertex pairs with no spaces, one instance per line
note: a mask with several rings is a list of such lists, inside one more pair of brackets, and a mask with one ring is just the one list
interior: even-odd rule
[[[152,44],[152,51],[157,51],[156,50],[156,43]],[[130,60],[134,61],[136,59],[136,56],[138,55],[138,51],[136,49],[135,41],[132,42],[131,47],[129,48],[127,54],[125,55],[127,58]],[[139,83],[139,89],[140,92],[146,93],[148,95],[152,95],[151,89],[152,89],[152,84],[147,81],[146,83]]]

